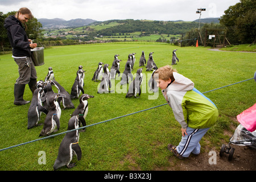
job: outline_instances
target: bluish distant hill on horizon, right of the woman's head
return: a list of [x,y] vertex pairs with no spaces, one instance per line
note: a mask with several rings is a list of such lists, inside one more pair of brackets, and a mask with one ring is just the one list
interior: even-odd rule
[[93,19],[71,19],[71,20],[64,20],[60,18],[55,19],[46,19],[40,18],[38,22],[42,23],[43,28],[65,28],[65,27],[81,27],[86,26],[90,23],[96,22]]

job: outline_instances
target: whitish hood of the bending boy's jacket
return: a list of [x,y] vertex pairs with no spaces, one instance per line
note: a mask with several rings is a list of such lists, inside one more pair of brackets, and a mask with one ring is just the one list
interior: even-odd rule
[[194,83],[189,78],[174,72],[175,81],[172,82],[166,89],[175,91],[189,91],[194,88]]

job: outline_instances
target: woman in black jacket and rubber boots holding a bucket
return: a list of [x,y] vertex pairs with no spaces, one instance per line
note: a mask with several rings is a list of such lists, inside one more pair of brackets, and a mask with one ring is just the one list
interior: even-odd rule
[[[32,19],[31,11],[26,7],[22,7],[16,15],[10,15],[5,19],[3,25],[7,30],[11,47],[13,47],[13,58],[18,65],[19,77],[14,84],[14,104],[24,105],[30,101],[23,100],[23,94],[26,84],[34,93],[36,85],[36,69],[31,59],[31,51],[37,46],[28,39],[26,34],[26,22]],[[23,27],[24,25],[24,27]]]

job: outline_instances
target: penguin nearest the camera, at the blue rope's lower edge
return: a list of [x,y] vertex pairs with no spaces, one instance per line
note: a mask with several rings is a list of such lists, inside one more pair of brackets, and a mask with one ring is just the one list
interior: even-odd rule
[[[79,115],[74,115],[68,121],[68,130],[79,128]],[[79,130],[69,131],[63,137],[57,159],[53,164],[53,169],[57,170],[60,167],[67,166],[67,168],[75,167],[75,163],[71,163],[73,155],[76,154],[77,160],[82,158],[82,151],[79,146]]]

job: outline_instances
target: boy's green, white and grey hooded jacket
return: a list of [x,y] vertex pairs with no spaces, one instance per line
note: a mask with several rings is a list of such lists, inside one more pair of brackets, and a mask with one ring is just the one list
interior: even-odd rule
[[175,81],[162,93],[181,127],[203,129],[213,126],[218,118],[218,109],[213,102],[194,88],[188,78],[176,72],[174,78]]

